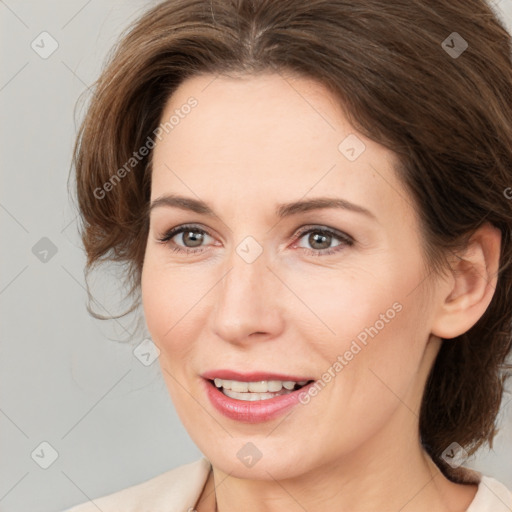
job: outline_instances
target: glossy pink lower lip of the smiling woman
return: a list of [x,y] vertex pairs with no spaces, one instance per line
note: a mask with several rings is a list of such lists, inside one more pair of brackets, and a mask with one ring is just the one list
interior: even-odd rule
[[245,402],[226,396],[209,380],[203,379],[203,381],[206,385],[206,394],[212,405],[224,416],[244,423],[260,423],[279,417],[299,404],[300,394],[307,393],[309,387],[314,384],[314,381],[310,382],[291,393],[268,398],[267,400]]

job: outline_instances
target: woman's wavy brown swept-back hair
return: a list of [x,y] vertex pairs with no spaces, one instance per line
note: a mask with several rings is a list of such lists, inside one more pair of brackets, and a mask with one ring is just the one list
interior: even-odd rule
[[[450,54],[464,40],[467,49]],[[396,172],[420,214],[432,269],[441,269],[446,251],[463,246],[483,222],[501,230],[492,302],[468,332],[443,342],[420,413],[427,452],[448,478],[461,481],[441,454],[454,441],[469,454],[486,441],[492,447],[510,369],[511,54],[510,34],[483,0],[157,5],[114,49],[78,135],[86,274],[101,261],[126,265],[134,305],[123,315],[139,304],[151,152],[129,169],[126,162],[148,144],[185,78],[291,71],[317,80],[339,98],[354,128],[398,155]],[[110,181],[105,192],[123,166],[122,183]]]

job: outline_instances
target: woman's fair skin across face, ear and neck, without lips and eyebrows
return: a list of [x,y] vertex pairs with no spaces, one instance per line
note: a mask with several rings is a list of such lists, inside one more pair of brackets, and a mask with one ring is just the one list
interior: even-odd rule
[[[465,332],[492,298],[499,232],[484,225],[467,259],[452,258],[457,272],[436,276],[395,155],[358,134],[321,84],[280,74],[196,76],[171,96],[162,119],[190,96],[198,105],[157,141],[151,200],[201,199],[216,216],[154,208],[141,284],[169,393],[213,467],[196,509],[466,510],[476,485],[440,473],[422,450],[418,416],[440,337]],[[349,134],[366,145],[355,161],[338,149]],[[320,196],[373,217],[333,208],[275,216],[279,203]],[[158,241],[190,223],[208,233],[203,252],[172,252],[195,248],[186,234]],[[297,236],[303,226],[354,243],[328,237],[315,245],[311,233]],[[247,236],[263,250],[252,263],[236,252]],[[325,247],[341,250],[307,251]],[[394,303],[401,311],[307,405],[246,424],[205,395],[200,374],[216,368],[321,379]],[[237,457],[247,442],[262,454],[252,467]]]

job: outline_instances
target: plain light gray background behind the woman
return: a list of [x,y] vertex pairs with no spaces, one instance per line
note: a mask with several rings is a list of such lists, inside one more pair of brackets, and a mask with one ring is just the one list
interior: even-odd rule
[[[63,510],[201,456],[158,362],[133,353],[143,332],[119,341],[133,317],[88,316],[67,189],[79,96],[121,30],[154,3],[0,0],[0,512]],[[512,30],[512,0],[494,4]],[[44,31],[58,44],[49,56],[56,43]],[[119,312],[116,274],[96,275],[96,309]],[[512,488],[510,394],[500,422],[494,450],[467,465]]]

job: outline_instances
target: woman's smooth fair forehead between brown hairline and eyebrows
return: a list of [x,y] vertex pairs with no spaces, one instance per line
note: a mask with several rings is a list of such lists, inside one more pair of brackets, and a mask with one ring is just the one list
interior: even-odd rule
[[[169,98],[161,126],[171,118],[154,149],[153,199],[179,189],[209,202],[242,197],[246,205],[309,194],[373,210],[407,207],[395,155],[356,133],[336,98],[310,79],[196,76]],[[356,159],[347,158],[347,144],[362,151]]]

